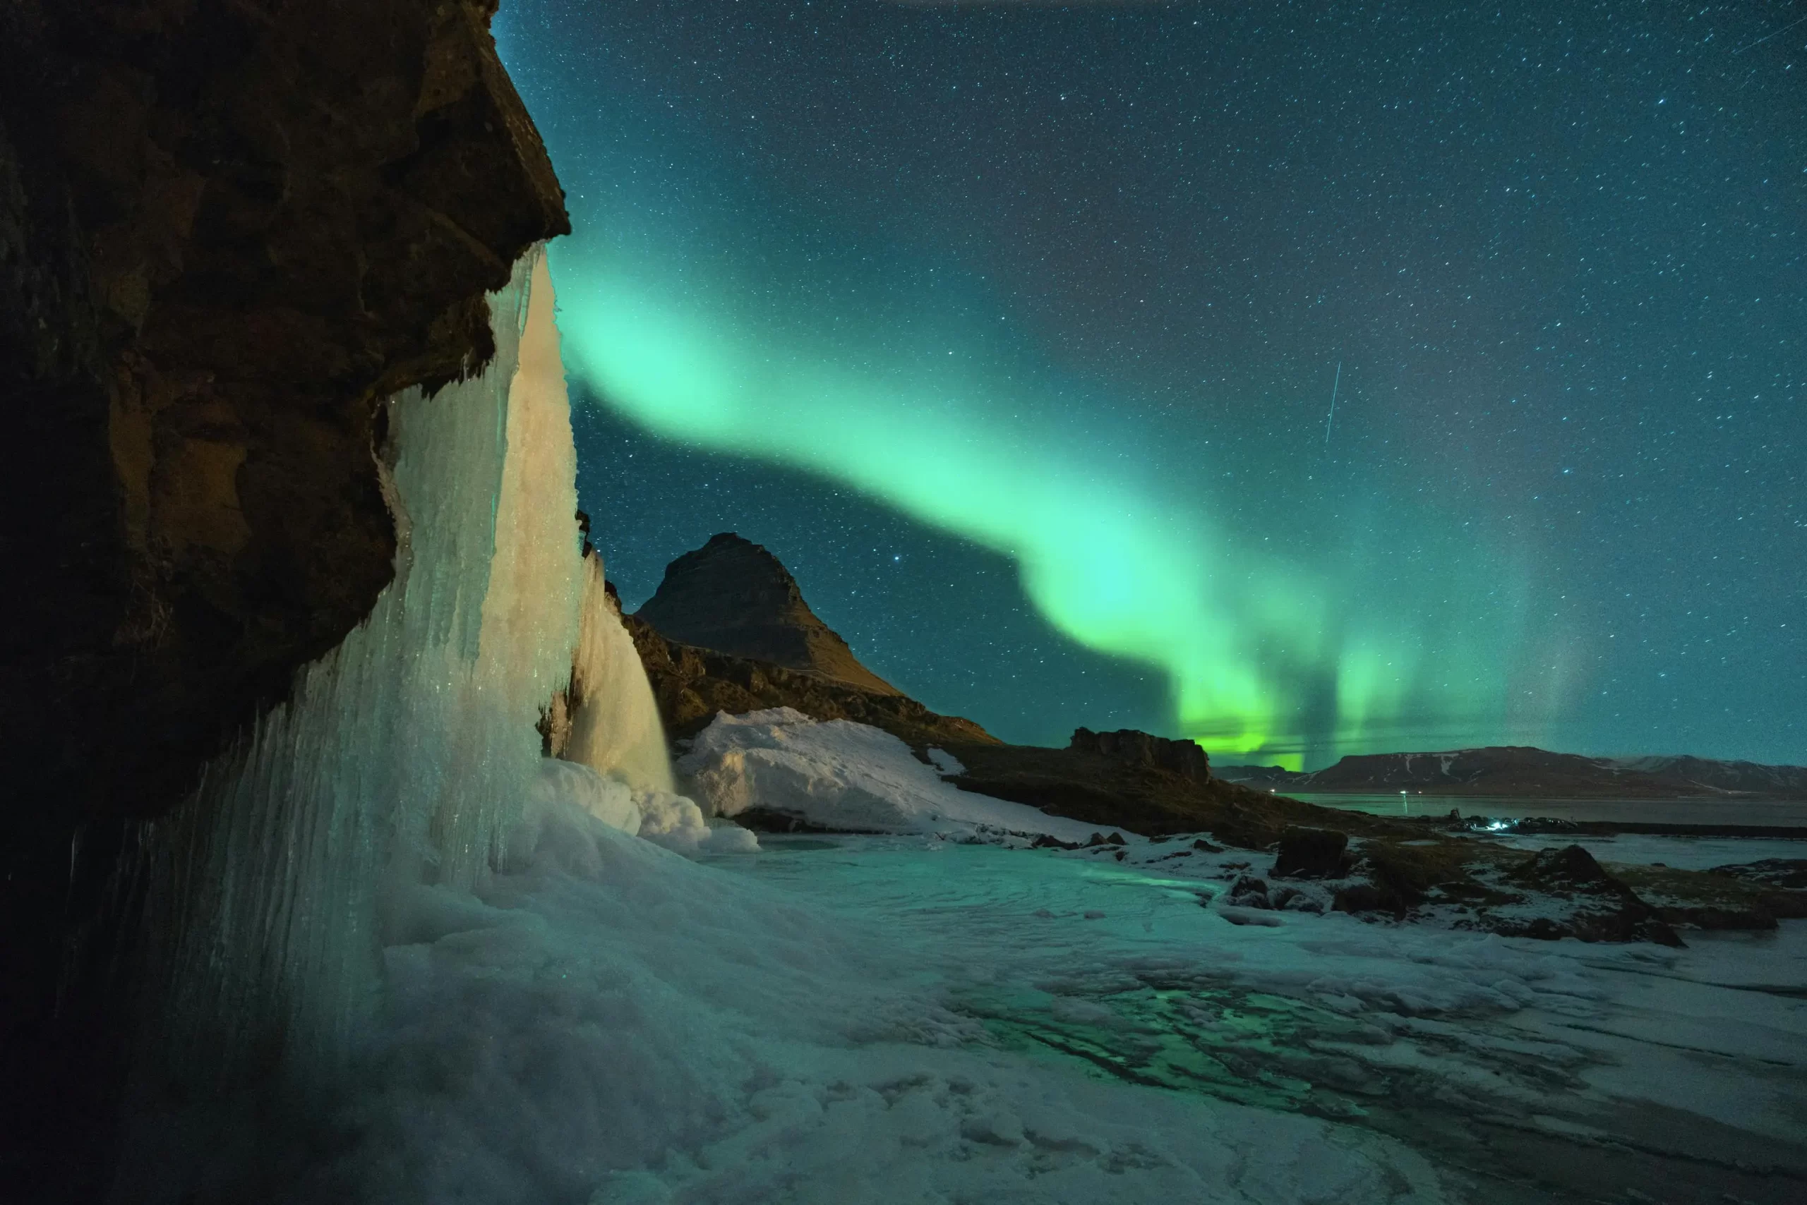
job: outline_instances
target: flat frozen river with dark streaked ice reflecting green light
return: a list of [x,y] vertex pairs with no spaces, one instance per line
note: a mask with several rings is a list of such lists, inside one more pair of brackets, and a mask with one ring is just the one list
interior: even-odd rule
[[1451,1200],[1807,1192],[1802,923],[1686,950],[1229,923],[1222,883],[1137,865],[1164,849],[768,838],[726,865],[878,925],[1003,1051],[1388,1135]]

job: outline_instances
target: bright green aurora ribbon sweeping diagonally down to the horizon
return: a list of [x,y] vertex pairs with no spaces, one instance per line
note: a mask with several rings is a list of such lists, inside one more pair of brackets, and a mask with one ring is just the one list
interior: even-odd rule
[[1200,488],[1209,444],[1175,455],[1100,421],[961,289],[876,275],[824,298],[822,260],[735,266],[726,240],[623,237],[634,213],[580,213],[553,266],[567,363],[651,432],[820,473],[1016,558],[1061,632],[1164,670],[1173,730],[1218,757],[1297,768],[1502,726],[1523,605],[1458,524],[1413,533],[1424,573],[1288,540],[1303,518],[1283,499],[1270,524],[1225,522]]

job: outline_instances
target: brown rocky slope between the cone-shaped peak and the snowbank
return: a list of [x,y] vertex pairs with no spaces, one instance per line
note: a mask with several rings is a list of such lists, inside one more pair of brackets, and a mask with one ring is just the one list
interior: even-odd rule
[[694,737],[717,712],[741,715],[770,706],[793,706],[815,719],[851,719],[882,728],[918,750],[997,743],[997,737],[970,719],[938,715],[896,690],[862,690],[772,661],[685,645],[665,638],[640,616],[627,616],[623,623],[647,667],[665,732],[676,741]]

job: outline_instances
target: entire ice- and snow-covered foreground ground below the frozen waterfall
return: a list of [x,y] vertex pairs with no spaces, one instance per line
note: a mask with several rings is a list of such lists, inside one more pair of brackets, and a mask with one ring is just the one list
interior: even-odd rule
[[1798,921],[1684,950],[1238,923],[1214,874],[1249,855],[931,831],[699,864],[544,784],[524,833],[479,896],[419,892],[332,1154],[304,1136],[271,1200],[1807,1191]]

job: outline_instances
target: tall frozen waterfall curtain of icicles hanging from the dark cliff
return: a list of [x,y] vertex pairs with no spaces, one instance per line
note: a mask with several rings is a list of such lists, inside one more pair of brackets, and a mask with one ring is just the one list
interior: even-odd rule
[[389,403],[394,582],[141,835],[141,1093],[329,1082],[379,1001],[389,901],[484,876],[538,773],[585,589],[542,249],[490,309],[481,376]]

